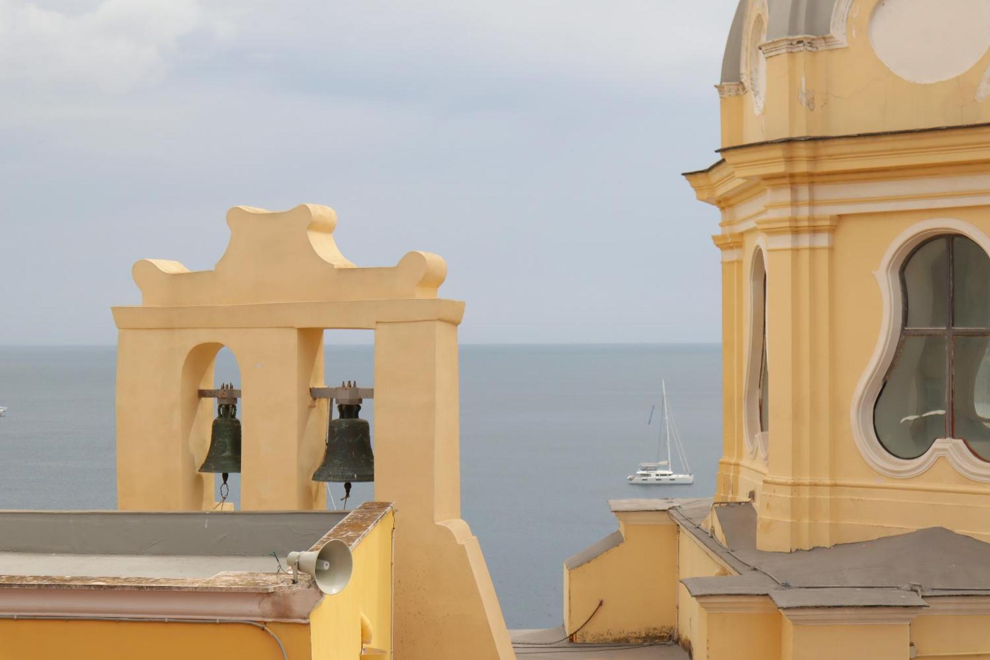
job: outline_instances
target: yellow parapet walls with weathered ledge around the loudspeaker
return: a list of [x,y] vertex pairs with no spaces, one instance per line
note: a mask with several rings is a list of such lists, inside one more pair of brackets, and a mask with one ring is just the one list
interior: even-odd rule
[[274,572],[2,576],[0,660],[391,658],[394,530],[391,504],[364,502],[313,545],[336,539],[350,549],[352,572],[334,595],[321,596],[310,576],[293,583]]

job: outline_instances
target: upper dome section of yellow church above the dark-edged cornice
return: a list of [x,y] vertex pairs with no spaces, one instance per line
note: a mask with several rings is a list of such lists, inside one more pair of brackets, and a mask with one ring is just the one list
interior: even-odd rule
[[741,0],[722,146],[990,123],[990,0]]

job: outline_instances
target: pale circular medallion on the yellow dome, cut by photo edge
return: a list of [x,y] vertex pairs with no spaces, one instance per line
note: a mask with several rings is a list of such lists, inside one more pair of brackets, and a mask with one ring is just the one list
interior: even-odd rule
[[881,0],[869,20],[873,51],[911,82],[940,82],[990,48],[990,0]]

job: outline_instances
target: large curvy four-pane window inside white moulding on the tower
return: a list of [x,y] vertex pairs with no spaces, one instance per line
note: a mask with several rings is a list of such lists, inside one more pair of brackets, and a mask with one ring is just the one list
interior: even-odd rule
[[958,438],[990,461],[990,257],[965,236],[938,236],[900,280],[901,337],[873,408],[876,436],[902,459]]

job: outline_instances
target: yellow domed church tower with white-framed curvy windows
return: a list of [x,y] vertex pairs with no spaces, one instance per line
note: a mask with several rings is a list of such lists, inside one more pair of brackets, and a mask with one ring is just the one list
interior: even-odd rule
[[[990,296],[949,284],[986,279],[988,47],[980,0],[740,2],[720,160],[686,176],[721,213],[717,497],[753,501],[762,550],[937,525],[990,541],[986,323],[905,315],[909,294]],[[955,275],[912,261],[936,239],[961,241]]]

